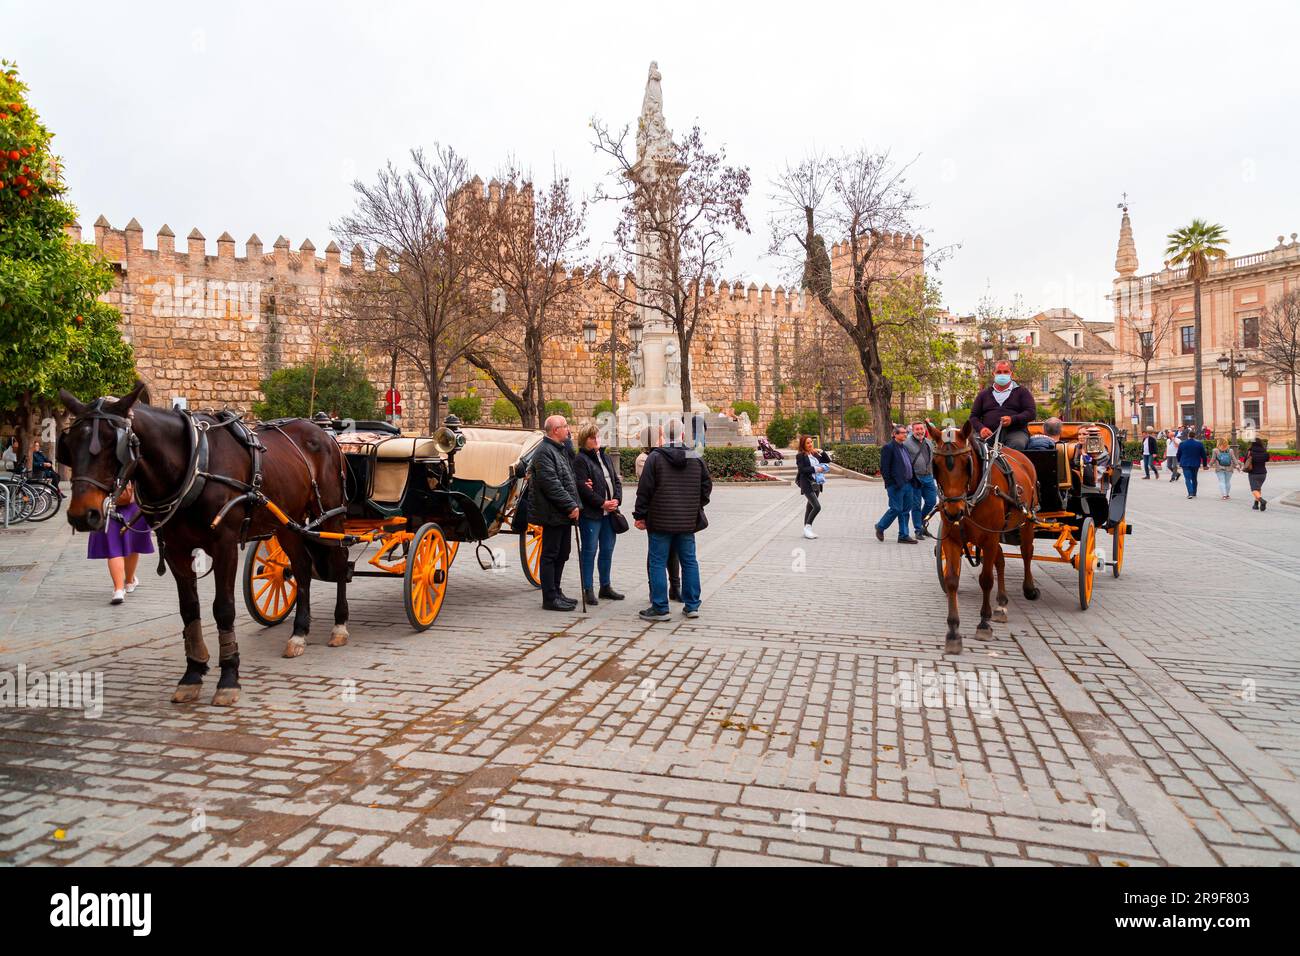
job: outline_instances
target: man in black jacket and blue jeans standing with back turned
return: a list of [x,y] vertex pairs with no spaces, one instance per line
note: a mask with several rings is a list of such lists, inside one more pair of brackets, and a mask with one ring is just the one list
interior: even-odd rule
[[644,620],[668,620],[668,549],[681,562],[682,614],[699,617],[699,562],[696,532],[707,527],[705,505],[714,490],[708,468],[698,451],[685,445],[685,425],[670,419],[668,444],[654,449],[637,483],[632,518],[650,533],[650,606]]

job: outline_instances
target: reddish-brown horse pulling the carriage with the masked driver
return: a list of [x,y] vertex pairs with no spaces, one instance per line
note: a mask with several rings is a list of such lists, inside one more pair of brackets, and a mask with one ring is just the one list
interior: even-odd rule
[[[962,653],[961,617],[957,613],[957,585],[961,583],[962,561],[971,548],[979,555],[979,585],[984,591],[976,640],[993,637],[989,620],[1006,623],[1006,557],[1002,535],[1019,529],[1020,557],[1024,559],[1024,597],[1039,598],[1034,584],[1034,518],[1037,510],[1037,475],[1030,459],[1014,449],[1002,449],[1010,464],[1011,479],[985,458],[971,436],[971,423],[942,432],[927,423],[933,438],[935,481],[939,484],[939,510],[942,533],[939,548],[942,557],[944,591],[948,592],[948,639],[944,653]],[[997,572],[997,610],[989,606],[993,572]]]

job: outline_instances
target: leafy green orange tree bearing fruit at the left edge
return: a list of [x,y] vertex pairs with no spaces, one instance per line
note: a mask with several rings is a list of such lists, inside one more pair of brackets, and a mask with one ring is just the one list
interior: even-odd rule
[[75,211],[26,94],[17,66],[0,61],[0,411],[25,455],[60,388],[87,398],[135,377],[117,310],[99,300],[113,272],[65,232]]

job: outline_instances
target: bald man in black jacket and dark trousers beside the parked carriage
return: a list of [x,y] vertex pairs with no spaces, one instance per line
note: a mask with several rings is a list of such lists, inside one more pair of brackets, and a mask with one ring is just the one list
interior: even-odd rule
[[577,601],[560,589],[580,511],[572,446],[568,421],[563,415],[551,415],[546,419],[546,437],[529,466],[529,520],[542,525],[542,607],[549,611],[577,607]]

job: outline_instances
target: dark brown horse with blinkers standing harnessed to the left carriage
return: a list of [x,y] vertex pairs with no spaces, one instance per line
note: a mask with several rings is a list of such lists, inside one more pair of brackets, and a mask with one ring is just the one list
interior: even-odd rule
[[[195,549],[213,561],[221,678],[213,704],[239,700],[239,645],[235,643],[235,578],[242,538],[274,532],[289,555],[298,584],[294,633],[285,657],[298,657],[311,630],[312,571],[338,585],[330,646],[347,643],[347,550],[306,540],[278,522],[256,493],[298,524],[307,524],[344,503],[343,455],[320,427],[295,419],[259,427],[256,437],[237,416],[161,411],[140,399],[144,382],[126,397],[90,403],[60,392],[73,423],[58,440],[58,460],[72,468],[68,522],[78,531],[108,527],[118,492],[127,481],[159,538],[162,558],[176,578],[185,622],[185,676],[172,695],[177,704],[196,700],[208,672],[208,646],[199,615]],[[254,479],[248,441],[263,442],[260,485]],[[242,488],[240,488],[242,486]],[[251,501],[240,496],[252,486]],[[234,502],[231,505],[231,502]],[[342,512],[320,529],[342,531]],[[160,568],[161,571],[161,568]]]

